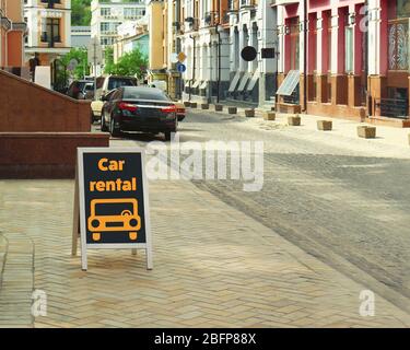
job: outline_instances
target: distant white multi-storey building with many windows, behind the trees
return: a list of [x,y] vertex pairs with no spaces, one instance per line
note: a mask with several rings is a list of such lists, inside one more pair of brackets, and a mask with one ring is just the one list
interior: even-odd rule
[[91,2],[91,36],[97,37],[103,50],[118,38],[117,28],[145,14],[145,1],[93,0]]

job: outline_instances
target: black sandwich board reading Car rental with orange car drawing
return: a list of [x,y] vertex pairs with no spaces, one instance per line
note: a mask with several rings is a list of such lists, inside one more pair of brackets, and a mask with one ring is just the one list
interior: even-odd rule
[[78,148],[72,255],[80,233],[81,266],[87,249],[145,249],[152,269],[144,152],[136,148]]

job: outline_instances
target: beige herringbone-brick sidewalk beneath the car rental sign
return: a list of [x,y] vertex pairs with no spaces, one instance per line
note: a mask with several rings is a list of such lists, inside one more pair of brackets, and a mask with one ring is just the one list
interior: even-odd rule
[[35,243],[35,289],[48,298],[35,327],[410,326],[377,295],[376,315],[360,316],[365,285],[189,182],[150,184],[151,271],[128,250],[91,250],[81,271],[70,255],[73,182],[0,186],[0,231]]

